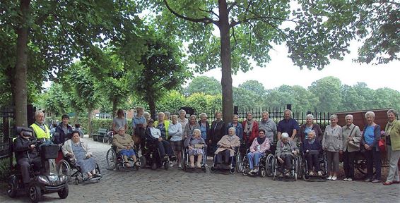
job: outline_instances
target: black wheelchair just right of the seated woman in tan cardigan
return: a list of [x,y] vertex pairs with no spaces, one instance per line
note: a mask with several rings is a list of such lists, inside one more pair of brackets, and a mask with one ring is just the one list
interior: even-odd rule
[[140,157],[140,161],[141,168],[150,166],[153,170],[161,167],[163,167],[165,170],[168,170],[168,168],[170,168],[170,161],[175,161],[175,159],[162,159],[160,152],[158,151],[158,147],[155,146],[154,143],[146,140],[144,147],[142,148],[142,156]]

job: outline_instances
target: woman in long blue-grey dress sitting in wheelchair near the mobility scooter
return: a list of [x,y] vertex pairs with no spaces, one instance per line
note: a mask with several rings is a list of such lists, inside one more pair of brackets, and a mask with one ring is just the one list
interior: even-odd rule
[[[73,131],[71,140],[66,140],[66,142],[64,142],[62,153],[66,159],[68,159],[67,162],[72,165],[70,167],[79,167],[82,175],[87,175],[87,179],[98,178],[101,176],[100,170],[96,170],[98,167],[96,166],[96,161],[92,156],[93,154],[90,151],[88,144],[81,140],[78,131]],[[61,165],[62,163],[64,162],[60,161]],[[57,166],[57,168],[60,168],[60,166]]]

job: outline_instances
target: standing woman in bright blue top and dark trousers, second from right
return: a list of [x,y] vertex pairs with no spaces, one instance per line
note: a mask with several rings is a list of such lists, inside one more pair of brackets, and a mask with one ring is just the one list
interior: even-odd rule
[[[380,125],[374,123],[375,113],[372,111],[367,111],[365,113],[365,118],[367,118],[367,125],[365,125],[363,130],[363,135],[361,137],[361,146],[365,148],[365,159],[367,159],[367,179],[365,182],[380,183],[381,179],[381,155],[380,148],[378,147],[378,142],[380,140]],[[374,165],[375,165],[375,178],[374,175]]]

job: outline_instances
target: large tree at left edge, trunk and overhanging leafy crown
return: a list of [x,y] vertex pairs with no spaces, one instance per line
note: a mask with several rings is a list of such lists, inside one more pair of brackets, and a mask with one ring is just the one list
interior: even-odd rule
[[[118,47],[138,44],[132,40],[138,38],[141,24],[134,5],[129,0],[1,1],[0,27],[7,33],[1,41],[16,47],[16,54],[2,56],[15,59],[8,70],[14,76],[16,125],[27,125],[27,78],[35,72],[30,71],[32,64],[40,61],[41,75],[52,78],[76,57],[101,60],[103,42]],[[28,63],[33,51],[40,54],[36,62]]]

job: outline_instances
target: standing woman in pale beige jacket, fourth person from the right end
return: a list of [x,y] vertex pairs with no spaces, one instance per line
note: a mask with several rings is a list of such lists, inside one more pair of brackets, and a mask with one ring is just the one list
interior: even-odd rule
[[343,153],[342,128],[338,125],[338,116],[331,115],[331,125],[325,128],[322,137],[322,148],[327,153],[328,173],[327,180],[337,180],[339,173],[339,153]]

